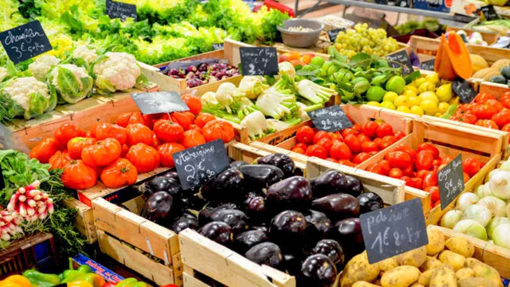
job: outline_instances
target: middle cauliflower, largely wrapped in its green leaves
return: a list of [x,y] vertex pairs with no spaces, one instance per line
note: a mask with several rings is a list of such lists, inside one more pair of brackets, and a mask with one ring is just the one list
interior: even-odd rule
[[83,67],[73,64],[57,65],[49,73],[48,85],[55,88],[67,103],[78,103],[92,91],[94,80]]

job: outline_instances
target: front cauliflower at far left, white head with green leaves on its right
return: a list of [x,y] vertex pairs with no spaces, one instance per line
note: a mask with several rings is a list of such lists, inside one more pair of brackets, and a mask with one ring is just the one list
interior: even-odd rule
[[[50,92],[46,84],[35,77],[14,78],[3,83],[3,86],[1,91],[3,104],[12,118],[22,115],[29,119],[52,111],[57,105],[57,94]],[[12,102],[6,103],[7,99]]]

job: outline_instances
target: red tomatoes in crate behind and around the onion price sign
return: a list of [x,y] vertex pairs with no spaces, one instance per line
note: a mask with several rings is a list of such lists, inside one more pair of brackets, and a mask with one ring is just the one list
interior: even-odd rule
[[[438,171],[453,157],[441,157],[432,143],[424,142],[415,150],[399,144],[385,159],[368,166],[367,171],[405,181],[407,186],[423,189],[431,194],[431,207],[440,204]],[[483,166],[478,159],[468,157],[462,162],[464,182],[473,177]]]

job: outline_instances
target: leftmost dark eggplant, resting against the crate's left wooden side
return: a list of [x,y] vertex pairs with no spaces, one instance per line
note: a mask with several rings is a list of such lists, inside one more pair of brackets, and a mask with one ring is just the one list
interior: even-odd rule
[[172,210],[172,196],[166,192],[157,192],[149,196],[142,208],[142,217],[152,222],[164,223]]

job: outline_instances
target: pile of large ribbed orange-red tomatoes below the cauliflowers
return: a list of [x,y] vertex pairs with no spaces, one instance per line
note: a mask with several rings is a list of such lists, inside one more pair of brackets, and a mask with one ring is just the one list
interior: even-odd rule
[[165,166],[173,168],[172,154],[216,139],[234,138],[234,128],[213,115],[200,113],[200,99],[183,95],[189,111],[144,115],[120,114],[115,124],[96,123],[89,131],[63,124],[54,137],[45,138],[31,158],[62,169],[66,187],[86,189],[98,178],[107,187],[136,182],[139,173]]

